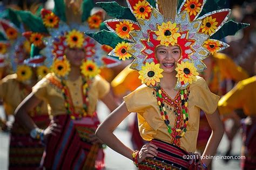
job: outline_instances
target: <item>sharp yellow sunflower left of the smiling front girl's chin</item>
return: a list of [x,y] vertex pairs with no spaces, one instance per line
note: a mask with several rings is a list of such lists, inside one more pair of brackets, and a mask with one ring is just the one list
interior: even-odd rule
[[163,77],[161,72],[163,71],[163,69],[160,69],[160,64],[155,65],[154,62],[146,63],[145,66],[142,66],[142,70],[139,71],[139,79],[147,86],[154,86],[160,82],[160,78]]

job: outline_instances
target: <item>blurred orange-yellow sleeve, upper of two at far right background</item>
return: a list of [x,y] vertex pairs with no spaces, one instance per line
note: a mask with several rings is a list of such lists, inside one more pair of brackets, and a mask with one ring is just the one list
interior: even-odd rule
[[218,53],[220,68],[223,69],[225,78],[230,78],[234,81],[247,79],[249,76],[247,72],[233,62],[233,60],[223,53]]

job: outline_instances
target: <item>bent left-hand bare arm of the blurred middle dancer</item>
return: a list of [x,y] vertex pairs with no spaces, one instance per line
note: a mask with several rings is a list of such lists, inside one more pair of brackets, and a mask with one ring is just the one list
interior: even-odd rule
[[37,125],[30,118],[28,112],[32,111],[42,100],[38,99],[33,92],[29,94],[22,102],[18,105],[15,110],[15,119],[17,119],[24,127],[28,128],[29,131],[37,127]]

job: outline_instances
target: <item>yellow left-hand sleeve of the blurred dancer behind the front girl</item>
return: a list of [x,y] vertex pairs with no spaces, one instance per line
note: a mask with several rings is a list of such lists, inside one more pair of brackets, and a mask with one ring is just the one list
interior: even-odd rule
[[47,86],[48,86],[48,81],[46,78],[43,78],[42,80],[38,81],[38,83],[35,86],[32,87],[32,92],[35,94],[35,96],[38,99],[47,100],[48,98]]

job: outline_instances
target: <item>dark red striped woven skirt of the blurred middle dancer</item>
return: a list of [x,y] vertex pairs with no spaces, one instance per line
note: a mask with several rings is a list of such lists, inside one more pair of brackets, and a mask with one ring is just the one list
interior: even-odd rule
[[46,142],[42,166],[46,169],[102,169],[104,153],[102,145],[91,144],[88,139],[99,125],[95,113],[93,117],[72,120],[70,115],[53,118],[62,131],[51,135]]

